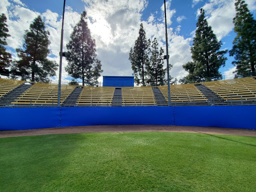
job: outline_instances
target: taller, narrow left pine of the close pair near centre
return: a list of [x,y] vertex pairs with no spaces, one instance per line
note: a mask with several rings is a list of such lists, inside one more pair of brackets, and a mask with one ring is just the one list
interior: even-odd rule
[[[134,72],[134,81],[138,85],[142,83],[145,85],[145,65],[148,62],[149,46],[150,40],[146,40],[145,31],[143,29],[142,23],[139,28],[139,35],[137,40],[135,40],[135,45],[130,48],[129,60],[131,62],[131,69]],[[139,76],[139,77],[138,77]]]

